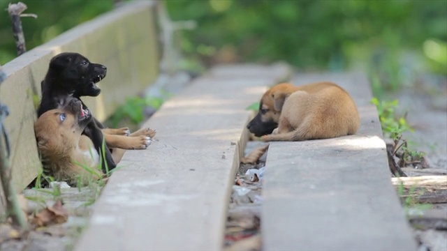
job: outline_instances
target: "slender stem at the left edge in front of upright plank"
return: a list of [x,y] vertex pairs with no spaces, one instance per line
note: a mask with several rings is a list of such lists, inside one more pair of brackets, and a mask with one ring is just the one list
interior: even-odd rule
[[[20,208],[19,201],[17,200],[17,195],[15,194],[15,189],[13,183],[11,182],[11,168],[9,162],[10,148],[8,135],[3,127],[3,121],[8,116],[8,107],[6,105],[0,104],[0,178],[1,185],[3,186],[3,192],[6,196],[6,208],[10,214],[13,222],[17,224],[21,229],[27,229],[27,218]],[[4,137],[4,139],[3,139]],[[3,142],[4,141],[4,142]]]

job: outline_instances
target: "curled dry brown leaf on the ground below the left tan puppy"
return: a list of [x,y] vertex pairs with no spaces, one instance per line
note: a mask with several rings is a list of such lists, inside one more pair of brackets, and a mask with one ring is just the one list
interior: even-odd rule
[[33,222],[39,227],[48,226],[52,224],[60,224],[67,221],[68,212],[62,206],[62,200],[58,199],[53,206],[47,206],[36,213]]

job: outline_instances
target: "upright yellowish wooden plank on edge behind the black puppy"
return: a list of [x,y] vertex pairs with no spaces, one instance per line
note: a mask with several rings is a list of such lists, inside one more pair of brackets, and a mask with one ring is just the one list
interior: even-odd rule
[[126,97],[142,91],[156,78],[159,56],[153,3],[126,4],[3,66],[8,78],[0,86],[0,100],[10,109],[6,130],[11,139],[13,182],[17,190],[28,185],[41,169],[34,136],[33,98],[40,96],[41,81],[51,57],[59,52],[79,52],[108,67],[108,76],[100,84],[101,95],[85,98],[96,118],[105,119]]

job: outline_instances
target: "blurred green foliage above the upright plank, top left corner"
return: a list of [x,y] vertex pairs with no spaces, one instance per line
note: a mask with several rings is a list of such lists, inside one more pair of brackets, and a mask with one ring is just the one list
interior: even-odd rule
[[[0,64],[17,56],[15,40],[8,15],[8,3],[18,1],[0,0]],[[77,24],[91,20],[113,8],[113,0],[22,0],[28,8],[24,13],[34,13],[22,18],[22,28],[27,50],[41,45]]]

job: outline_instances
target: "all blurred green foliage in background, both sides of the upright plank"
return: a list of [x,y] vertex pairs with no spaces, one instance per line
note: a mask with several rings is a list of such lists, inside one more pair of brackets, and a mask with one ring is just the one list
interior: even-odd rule
[[[0,64],[15,42],[0,0]],[[114,8],[117,0],[24,0],[37,19],[22,18],[27,50]],[[163,1],[170,19],[193,20],[177,31],[180,66],[285,61],[298,71],[364,70],[374,95],[447,75],[447,1]],[[142,24],[144,25],[144,24]],[[129,27],[131,29],[131,27]],[[440,80],[443,81],[443,80]],[[444,80],[445,81],[445,80]]]

